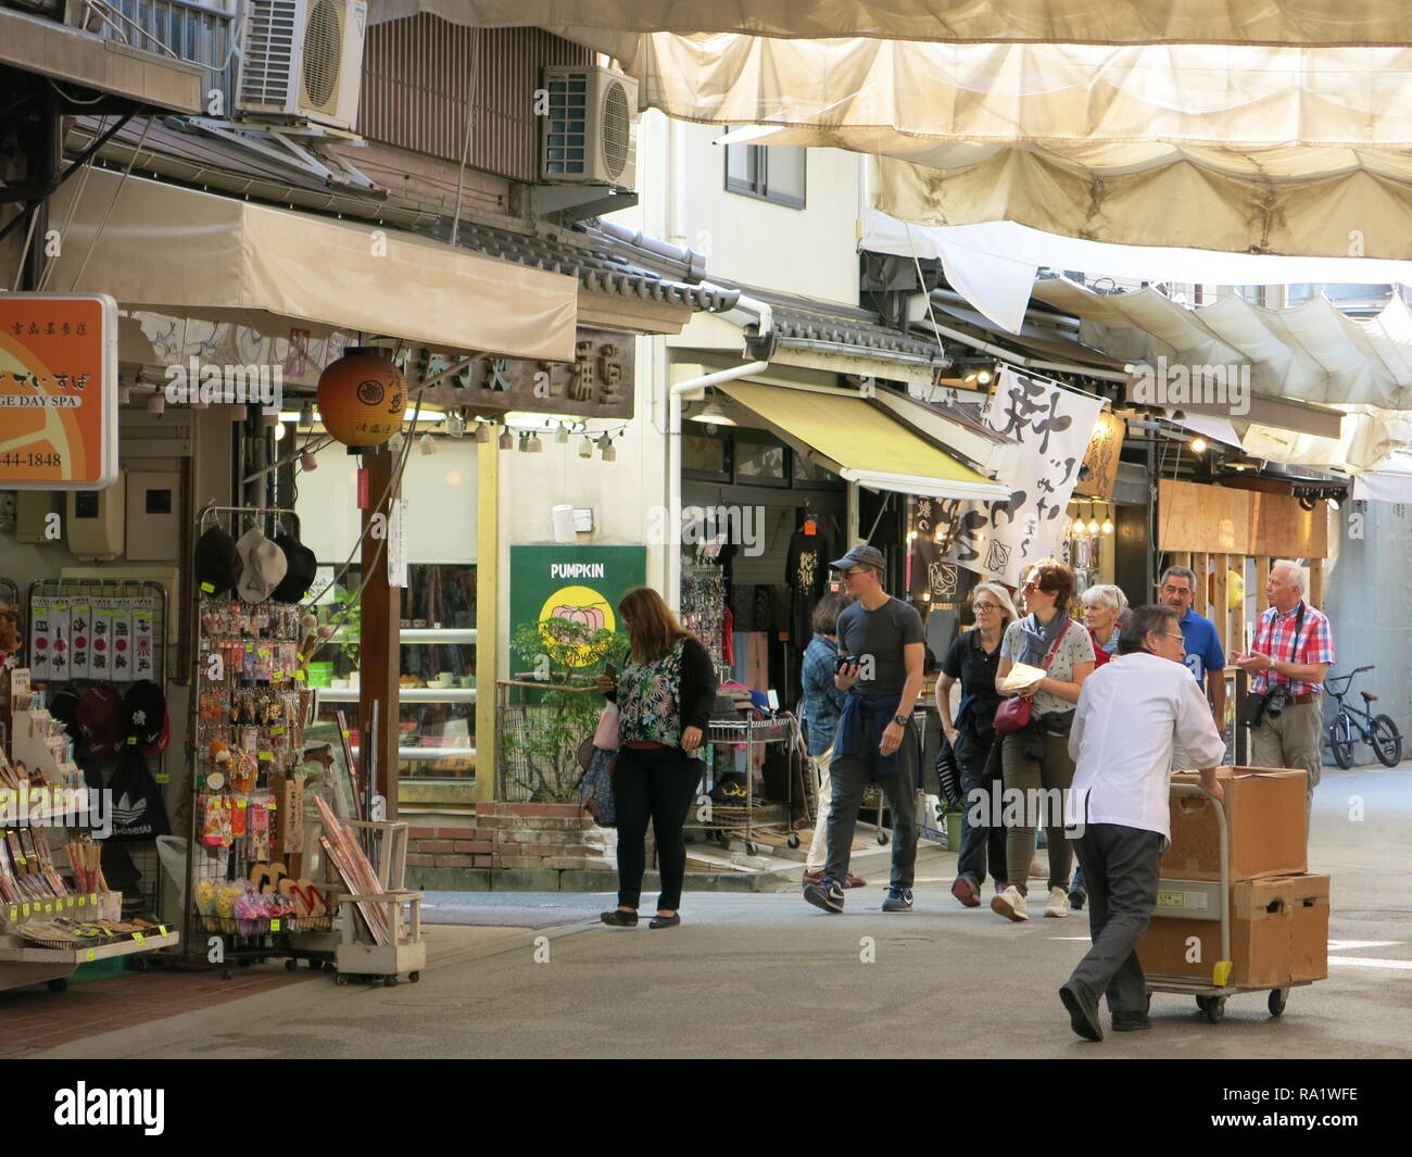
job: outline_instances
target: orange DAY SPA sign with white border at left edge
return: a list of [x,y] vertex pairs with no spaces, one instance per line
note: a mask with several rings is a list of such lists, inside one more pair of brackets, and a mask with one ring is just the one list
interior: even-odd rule
[[117,302],[0,294],[0,490],[117,480]]

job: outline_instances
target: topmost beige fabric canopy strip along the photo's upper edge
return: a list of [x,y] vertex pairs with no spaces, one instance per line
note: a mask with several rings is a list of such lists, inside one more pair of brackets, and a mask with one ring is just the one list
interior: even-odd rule
[[1412,42],[1391,0],[373,0],[373,23],[432,13],[483,28],[747,32],[922,41],[1089,44]]

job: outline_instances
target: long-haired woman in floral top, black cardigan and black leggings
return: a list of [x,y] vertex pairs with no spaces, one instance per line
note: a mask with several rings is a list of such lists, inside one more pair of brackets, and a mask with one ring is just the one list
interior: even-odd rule
[[716,702],[716,668],[706,648],[676,622],[650,586],[628,591],[618,617],[633,641],[614,681],[599,677],[599,691],[618,705],[620,743],[613,761],[613,801],[618,828],[618,906],[602,920],[616,928],[637,924],[642,873],[647,869],[647,821],[657,833],[662,893],[650,928],[674,928],[686,843],[682,825],[696,798],[702,746]]

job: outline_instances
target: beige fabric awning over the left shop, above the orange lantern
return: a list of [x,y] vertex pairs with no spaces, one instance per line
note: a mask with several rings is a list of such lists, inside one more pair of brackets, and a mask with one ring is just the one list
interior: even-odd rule
[[[71,219],[72,213],[72,219]],[[397,229],[350,225],[93,170],[55,194],[48,288],[133,309],[302,322],[448,352],[573,360],[579,283]]]

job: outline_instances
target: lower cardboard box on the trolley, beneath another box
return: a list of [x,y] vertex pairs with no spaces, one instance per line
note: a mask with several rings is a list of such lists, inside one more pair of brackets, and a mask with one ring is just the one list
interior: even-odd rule
[[[1329,877],[1265,876],[1231,884],[1231,973],[1236,987],[1279,989],[1329,975]],[[1148,976],[1214,983],[1221,958],[1216,920],[1154,915],[1138,959]]]

